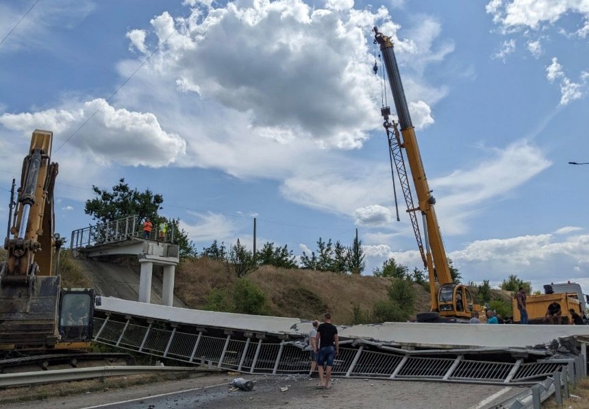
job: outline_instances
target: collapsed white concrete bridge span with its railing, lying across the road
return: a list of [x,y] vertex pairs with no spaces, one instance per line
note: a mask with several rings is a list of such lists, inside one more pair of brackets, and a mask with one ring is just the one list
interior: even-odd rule
[[[305,373],[311,323],[103,297],[94,340],[244,373]],[[384,323],[338,327],[344,377],[529,384],[586,374],[589,326]]]

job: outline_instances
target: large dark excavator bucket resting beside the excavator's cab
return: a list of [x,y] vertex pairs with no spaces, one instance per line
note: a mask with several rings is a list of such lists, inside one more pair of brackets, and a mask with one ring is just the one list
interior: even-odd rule
[[29,276],[20,283],[12,282],[10,276],[0,277],[0,345],[55,345],[61,276]]

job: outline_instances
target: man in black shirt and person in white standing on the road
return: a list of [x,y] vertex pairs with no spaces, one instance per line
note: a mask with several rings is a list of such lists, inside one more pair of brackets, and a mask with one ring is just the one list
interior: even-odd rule
[[309,333],[309,344],[311,347],[311,376],[314,377],[315,371],[317,371],[319,377],[316,388],[329,389],[331,368],[340,352],[338,328],[331,323],[329,312],[323,315],[323,323],[313,321],[313,328]]

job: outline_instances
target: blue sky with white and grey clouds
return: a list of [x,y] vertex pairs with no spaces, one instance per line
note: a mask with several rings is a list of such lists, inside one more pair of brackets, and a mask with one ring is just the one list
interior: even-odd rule
[[[33,3],[0,1],[0,38]],[[394,220],[373,25],[464,280],[589,286],[589,165],[568,164],[589,162],[586,1],[40,0],[0,45],[0,222],[41,128],[62,234],[91,223],[92,184],[125,177],[199,247],[251,246],[256,216],[258,243],[300,255],[358,228],[366,273],[419,267],[403,203]]]

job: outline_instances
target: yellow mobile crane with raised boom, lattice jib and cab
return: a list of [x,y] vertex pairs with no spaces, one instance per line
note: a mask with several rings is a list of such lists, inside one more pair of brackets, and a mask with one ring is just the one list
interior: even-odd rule
[[[429,190],[427,178],[425,177],[415,129],[411,122],[401,76],[399,75],[399,66],[397,66],[397,59],[394,56],[392,40],[390,37],[380,33],[377,27],[374,27],[373,31],[375,33],[374,42],[380,45],[381,55],[390,82],[394,106],[397,110],[399,121],[399,123],[394,123],[394,121],[390,123],[390,107],[383,106],[381,108],[381,114],[384,117],[384,127],[389,140],[391,166],[393,162],[397,165],[397,174],[399,175],[403,195],[408,206],[407,211],[410,214],[419,251],[421,252],[421,258],[429,276],[431,312],[418,314],[417,319],[418,321],[436,321],[440,316],[467,319],[471,317],[473,311],[481,310],[481,308],[474,303],[468,287],[463,284],[455,284],[452,280],[446,250],[442,242],[442,234],[440,233],[436,211],[434,210],[436,199],[431,195],[431,190]],[[374,70],[377,73],[376,64]],[[397,125],[401,128],[400,133]],[[414,206],[413,204],[405,169],[403,149],[407,155],[413,177],[418,206]],[[421,239],[417,213],[421,213],[423,218],[425,240]],[[425,251],[423,249],[423,241],[425,241]]]

